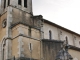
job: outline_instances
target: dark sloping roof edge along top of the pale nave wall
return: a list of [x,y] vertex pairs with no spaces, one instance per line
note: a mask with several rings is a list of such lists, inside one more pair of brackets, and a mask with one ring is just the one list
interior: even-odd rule
[[56,24],[56,23],[53,23],[53,22],[48,21],[48,20],[46,20],[46,19],[43,19],[43,20],[44,20],[44,23],[48,23],[48,24],[53,25],[53,26],[55,26],[55,27],[57,27],[57,28],[60,28],[60,29],[62,29],[62,30],[64,30],[64,31],[67,31],[67,32],[72,33],[72,34],[75,34],[75,35],[77,35],[77,36],[80,36],[80,34],[74,32],[74,31],[71,31],[71,30],[69,30],[69,29],[67,29],[67,28],[64,28],[64,27],[62,27],[62,26],[60,26],[60,25],[58,25],[58,24]]

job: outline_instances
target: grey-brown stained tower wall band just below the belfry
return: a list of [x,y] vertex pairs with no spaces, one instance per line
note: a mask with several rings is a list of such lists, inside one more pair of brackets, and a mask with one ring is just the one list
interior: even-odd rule
[[33,18],[33,15],[14,7],[12,8],[12,19],[12,26],[20,23],[37,29],[41,28],[40,18]]

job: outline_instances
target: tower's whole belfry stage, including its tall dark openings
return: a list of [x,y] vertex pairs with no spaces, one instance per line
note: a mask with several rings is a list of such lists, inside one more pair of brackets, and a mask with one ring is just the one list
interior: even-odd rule
[[1,0],[0,14],[7,10],[8,6],[32,13],[32,0]]

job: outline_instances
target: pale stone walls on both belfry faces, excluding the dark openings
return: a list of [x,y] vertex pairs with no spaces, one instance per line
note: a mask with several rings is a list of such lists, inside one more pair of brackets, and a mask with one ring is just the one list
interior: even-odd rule
[[[6,0],[5,8],[4,8],[4,0],[1,0],[0,4],[1,4],[0,14],[3,14],[5,11],[7,11],[8,0]],[[24,7],[24,0],[21,1],[21,5],[18,5],[18,0],[10,0],[9,5],[32,14],[32,0],[27,0],[27,7]]]

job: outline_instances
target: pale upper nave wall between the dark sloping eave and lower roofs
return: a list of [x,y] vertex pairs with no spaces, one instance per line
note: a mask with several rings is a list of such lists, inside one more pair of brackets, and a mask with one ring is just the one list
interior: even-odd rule
[[49,39],[49,30],[52,32],[52,39],[64,41],[67,37],[70,45],[80,47],[80,36],[67,32],[48,23],[44,23],[43,25],[44,39]]

